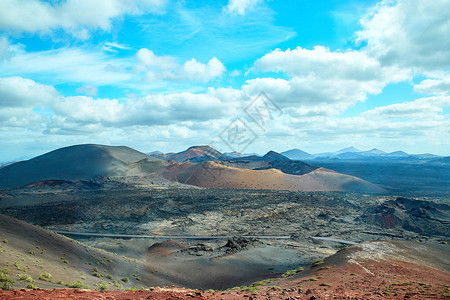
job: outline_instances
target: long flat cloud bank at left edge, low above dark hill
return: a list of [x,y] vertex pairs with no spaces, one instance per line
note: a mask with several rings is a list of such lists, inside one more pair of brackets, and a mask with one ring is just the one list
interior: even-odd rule
[[[210,88],[206,93],[156,94],[129,99],[101,99],[88,96],[65,97],[52,86],[30,79],[8,77],[0,79],[0,112],[19,119],[21,108],[35,110],[53,131],[56,125],[68,130],[78,128],[122,128],[127,126],[157,126],[178,122],[203,122],[229,116],[238,107],[241,93],[232,89]],[[40,121],[43,119],[41,118]],[[82,131],[82,130],[81,130]],[[58,131],[60,133],[60,131]]]

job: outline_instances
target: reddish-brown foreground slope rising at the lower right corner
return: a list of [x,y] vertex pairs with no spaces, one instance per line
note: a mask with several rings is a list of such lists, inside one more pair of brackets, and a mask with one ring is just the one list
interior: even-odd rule
[[0,299],[448,299],[448,246],[373,241],[341,251],[291,278],[253,288],[95,292],[0,291]]

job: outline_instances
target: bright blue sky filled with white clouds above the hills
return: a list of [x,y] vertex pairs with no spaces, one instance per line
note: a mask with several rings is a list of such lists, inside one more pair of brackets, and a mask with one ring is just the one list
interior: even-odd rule
[[450,155],[450,0],[2,0],[0,161],[74,144]]

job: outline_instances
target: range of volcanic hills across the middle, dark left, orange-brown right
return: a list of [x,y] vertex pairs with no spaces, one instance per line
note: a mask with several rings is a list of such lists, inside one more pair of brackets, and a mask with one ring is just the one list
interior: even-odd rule
[[383,191],[355,176],[291,160],[274,151],[264,156],[232,158],[210,146],[147,155],[125,146],[75,145],[0,168],[0,188],[86,180],[231,189]]

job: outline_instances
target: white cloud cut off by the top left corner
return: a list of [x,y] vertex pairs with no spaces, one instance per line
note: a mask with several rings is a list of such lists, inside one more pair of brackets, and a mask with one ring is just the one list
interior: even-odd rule
[[164,0],[40,0],[0,1],[0,30],[12,33],[63,30],[86,39],[89,30],[109,31],[112,19],[123,15],[161,12]]

